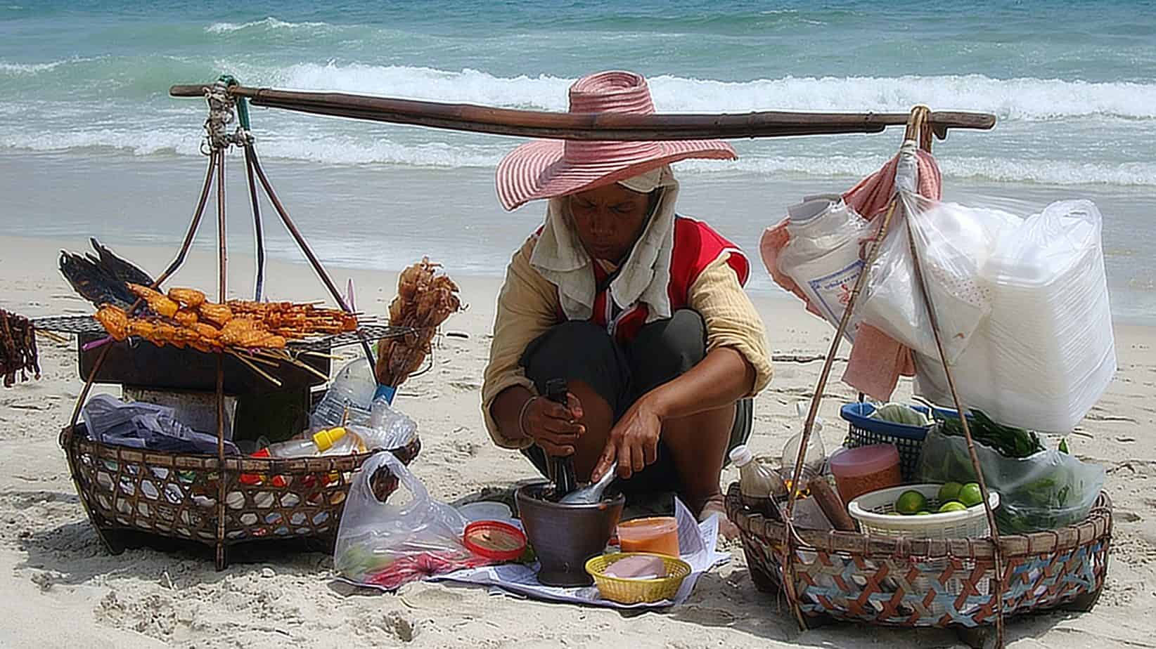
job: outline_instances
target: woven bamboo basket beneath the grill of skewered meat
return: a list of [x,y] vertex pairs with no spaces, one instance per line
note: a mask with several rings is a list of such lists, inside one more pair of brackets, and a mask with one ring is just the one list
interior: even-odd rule
[[[64,428],[60,446],[89,520],[114,554],[124,551],[124,532],[218,549],[262,539],[332,543],[353,475],[370,456],[230,456],[222,465],[209,455],[99,443],[88,439],[83,424]],[[420,450],[414,437],[391,453],[408,464]],[[373,491],[383,500],[397,488],[397,478],[384,471],[373,478]]]

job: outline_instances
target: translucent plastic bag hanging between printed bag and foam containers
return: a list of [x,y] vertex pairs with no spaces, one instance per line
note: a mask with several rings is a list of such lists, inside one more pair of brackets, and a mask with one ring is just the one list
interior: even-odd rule
[[907,230],[919,252],[919,268],[935,307],[948,361],[968,348],[992,308],[992,292],[980,275],[1001,236],[1020,223],[1010,212],[970,208],[901,192],[902,210],[880,247],[864,299],[862,322],[905,346],[939,358],[931,318],[916,277]]

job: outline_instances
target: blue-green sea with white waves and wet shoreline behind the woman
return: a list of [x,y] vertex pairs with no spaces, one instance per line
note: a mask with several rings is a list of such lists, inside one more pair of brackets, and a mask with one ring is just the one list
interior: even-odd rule
[[[0,0],[0,229],[176,245],[203,177],[205,106],[169,97],[172,83],[229,73],[561,111],[576,77],[627,68],[664,112],[992,112],[993,130],[936,142],[946,197],[1024,215],[1096,201],[1113,312],[1143,320],[1156,313],[1154,33],[1150,1]],[[497,203],[494,166],[518,139],[252,112],[273,182],[327,263],[398,270],[430,254],[501,276],[542,218],[540,204]],[[755,256],[787,206],[846,189],[901,136],[734,141],[735,162],[676,165],[680,210]],[[230,244],[251,249],[231,161]],[[267,230],[272,255],[301,260]],[[779,292],[755,268],[750,289]]]

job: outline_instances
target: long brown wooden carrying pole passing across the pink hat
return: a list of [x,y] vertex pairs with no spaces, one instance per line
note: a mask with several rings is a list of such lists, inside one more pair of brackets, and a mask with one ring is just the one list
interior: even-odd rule
[[[173,97],[205,96],[205,84],[169,89]],[[907,122],[905,113],[800,113],[764,111],[744,114],[560,113],[495,109],[474,104],[417,102],[343,92],[297,92],[271,88],[230,85],[234,97],[254,106],[371,121],[409,124],[524,137],[565,140],[696,140],[704,137],[776,137],[836,133],[879,133]],[[988,129],[995,115],[969,112],[933,112],[931,132],[940,140],[949,128]]]

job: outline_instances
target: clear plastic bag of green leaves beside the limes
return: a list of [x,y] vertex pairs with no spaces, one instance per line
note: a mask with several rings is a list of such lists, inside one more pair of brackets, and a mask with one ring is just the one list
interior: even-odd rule
[[[1057,449],[1028,457],[1005,457],[976,442],[987,488],[1000,494],[995,524],[1000,534],[1054,530],[1088,517],[1104,486],[1104,468]],[[933,426],[924,440],[919,476],[925,483],[975,482],[968,440]]]

